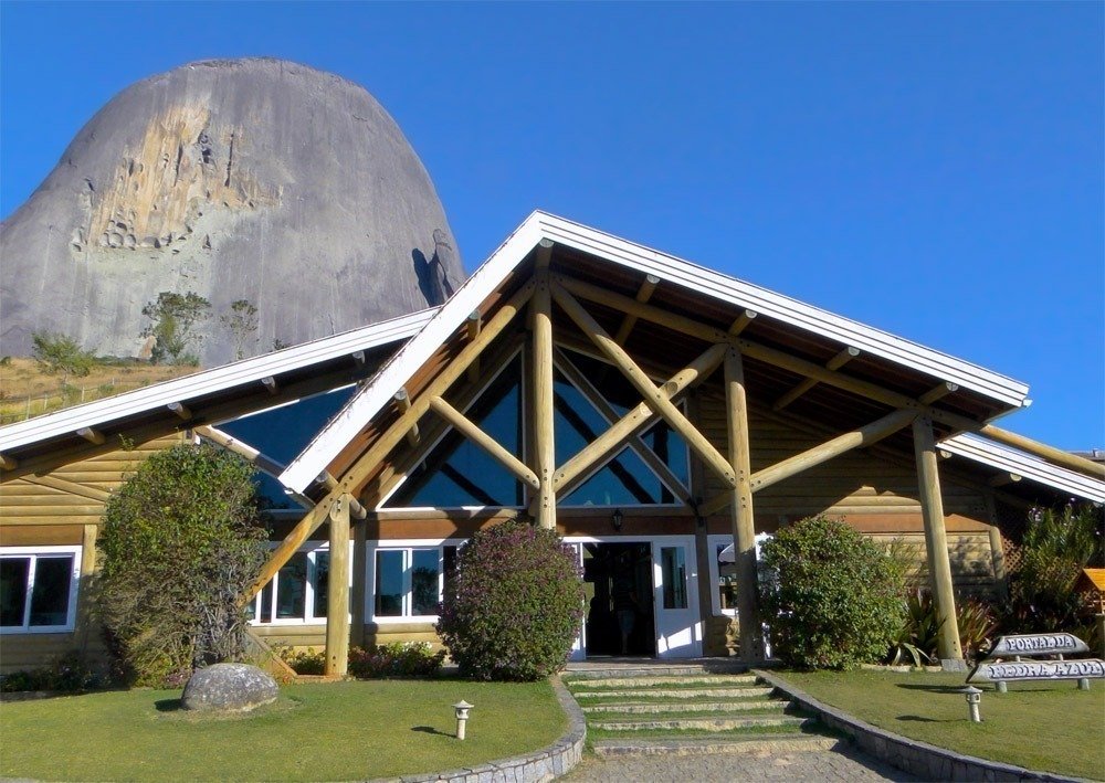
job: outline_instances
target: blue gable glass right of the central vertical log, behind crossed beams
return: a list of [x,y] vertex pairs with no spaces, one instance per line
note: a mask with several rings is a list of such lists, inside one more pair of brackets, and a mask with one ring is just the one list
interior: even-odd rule
[[[576,367],[601,392],[618,416],[641,401],[640,394],[611,366],[587,357],[569,353]],[[588,443],[604,433],[613,423],[559,371],[554,375],[556,461],[564,464]],[[683,441],[664,422],[650,427],[641,437],[684,486],[688,482],[687,449]],[[596,470],[567,496],[562,506],[645,506],[669,505],[675,496],[649,468],[636,453],[625,446],[613,459]]]

